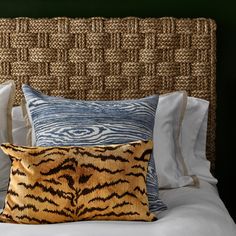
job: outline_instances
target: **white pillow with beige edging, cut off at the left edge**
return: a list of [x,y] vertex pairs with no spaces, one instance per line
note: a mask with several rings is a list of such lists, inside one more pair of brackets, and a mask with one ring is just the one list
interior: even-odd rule
[[[0,84],[0,143],[12,142],[11,109],[14,102],[14,81]],[[0,191],[8,187],[10,159],[0,150]]]

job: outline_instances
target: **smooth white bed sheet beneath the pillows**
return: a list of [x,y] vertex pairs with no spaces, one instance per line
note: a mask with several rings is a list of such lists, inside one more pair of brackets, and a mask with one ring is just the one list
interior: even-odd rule
[[[236,226],[216,188],[201,181],[200,188],[162,190],[169,209],[159,220],[145,222],[74,222],[52,225],[0,223],[1,236],[236,236]],[[0,201],[3,196],[0,195]]]

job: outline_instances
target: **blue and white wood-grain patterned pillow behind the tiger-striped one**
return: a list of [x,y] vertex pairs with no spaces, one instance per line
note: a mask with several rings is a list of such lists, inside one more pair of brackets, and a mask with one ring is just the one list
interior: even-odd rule
[[[22,86],[37,146],[93,146],[152,139],[158,95],[136,100],[82,101],[47,96]],[[166,209],[158,197],[153,155],[147,174],[151,212]]]

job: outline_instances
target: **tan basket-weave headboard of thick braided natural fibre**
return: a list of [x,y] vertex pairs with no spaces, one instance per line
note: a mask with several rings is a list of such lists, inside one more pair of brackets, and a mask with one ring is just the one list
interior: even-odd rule
[[186,90],[210,101],[215,160],[216,25],[211,19],[0,19],[0,82],[49,95],[125,99]]

